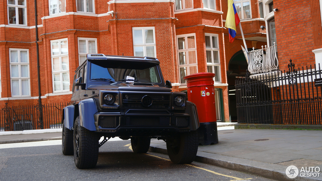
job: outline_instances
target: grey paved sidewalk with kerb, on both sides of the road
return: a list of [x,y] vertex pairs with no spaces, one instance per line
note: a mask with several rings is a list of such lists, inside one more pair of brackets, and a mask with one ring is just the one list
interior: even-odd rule
[[[288,165],[299,169],[318,166],[319,177],[298,176],[294,180],[322,181],[322,130],[233,129],[228,123],[220,124],[226,127],[218,127],[219,143],[199,146],[196,161],[281,181],[290,181],[285,176]],[[2,135],[0,143],[61,137],[62,132]],[[150,151],[166,154],[166,143],[152,140]]]

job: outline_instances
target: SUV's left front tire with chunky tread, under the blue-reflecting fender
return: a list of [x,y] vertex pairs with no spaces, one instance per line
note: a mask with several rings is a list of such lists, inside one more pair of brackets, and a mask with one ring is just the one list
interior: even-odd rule
[[80,126],[79,117],[74,124],[74,159],[79,169],[94,168],[99,157],[99,136]]

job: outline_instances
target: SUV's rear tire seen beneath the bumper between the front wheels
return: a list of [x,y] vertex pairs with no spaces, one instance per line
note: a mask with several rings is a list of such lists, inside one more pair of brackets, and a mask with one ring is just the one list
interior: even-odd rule
[[147,153],[150,148],[151,138],[149,137],[132,137],[131,146],[134,153]]

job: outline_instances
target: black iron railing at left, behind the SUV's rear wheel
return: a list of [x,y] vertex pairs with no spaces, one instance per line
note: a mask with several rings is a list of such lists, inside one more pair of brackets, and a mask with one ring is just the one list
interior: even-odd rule
[[0,112],[0,131],[62,128],[62,109],[69,102],[5,107]]

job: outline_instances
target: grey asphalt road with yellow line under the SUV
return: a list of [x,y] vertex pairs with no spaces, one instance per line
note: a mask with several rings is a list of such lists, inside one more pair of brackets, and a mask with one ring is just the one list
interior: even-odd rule
[[176,165],[163,154],[134,154],[130,141],[108,141],[99,148],[94,169],[78,169],[62,154],[61,140],[0,145],[1,181],[268,181],[271,179],[199,162]]

